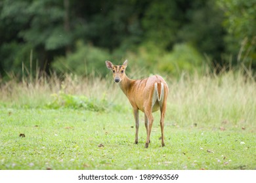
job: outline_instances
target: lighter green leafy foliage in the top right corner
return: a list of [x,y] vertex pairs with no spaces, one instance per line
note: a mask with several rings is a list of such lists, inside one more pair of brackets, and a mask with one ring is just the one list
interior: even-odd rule
[[238,56],[239,63],[256,68],[256,1],[218,0],[217,4],[224,11],[227,53]]

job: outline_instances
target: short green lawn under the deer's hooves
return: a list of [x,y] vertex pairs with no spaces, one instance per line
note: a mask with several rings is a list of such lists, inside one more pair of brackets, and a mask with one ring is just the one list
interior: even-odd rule
[[144,124],[133,144],[133,116],[125,112],[5,108],[0,122],[0,169],[256,168],[255,131],[240,127],[179,127],[167,120],[161,148],[154,122],[145,149]]

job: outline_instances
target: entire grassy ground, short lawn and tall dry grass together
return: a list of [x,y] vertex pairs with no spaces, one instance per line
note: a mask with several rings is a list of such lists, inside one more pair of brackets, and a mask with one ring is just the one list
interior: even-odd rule
[[[129,75],[129,74],[127,74]],[[0,169],[256,169],[256,83],[242,73],[167,78],[151,142],[109,79],[8,82],[0,94]]]

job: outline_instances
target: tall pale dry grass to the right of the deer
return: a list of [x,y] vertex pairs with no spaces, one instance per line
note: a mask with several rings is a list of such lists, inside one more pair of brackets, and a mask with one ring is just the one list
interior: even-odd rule
[[255,131],[256,82],[243,71],[181,76],[172,82],[169,119],[183,126],[240,128]]

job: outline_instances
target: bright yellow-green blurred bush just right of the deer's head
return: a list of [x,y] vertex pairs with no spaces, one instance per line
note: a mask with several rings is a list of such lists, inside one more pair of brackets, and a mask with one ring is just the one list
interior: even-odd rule
[[160,50],[155,44],[144,44],[138,52],[127,52],[126,58],[140,67],[146,69],[147,73],[168,73],[178,76],[182,71],[200,73],[203,69],[204,58],[202,54],[188,43],[175,44],[173,51]]

